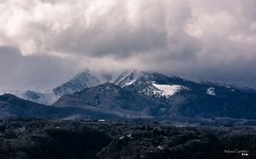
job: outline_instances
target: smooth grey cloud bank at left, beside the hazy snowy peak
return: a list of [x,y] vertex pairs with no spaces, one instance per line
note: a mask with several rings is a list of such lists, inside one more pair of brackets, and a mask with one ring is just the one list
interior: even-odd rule
[[53,87],[75,74],[72,60],[55,56],[22,56],[15,48],[0,48],[0,89]]

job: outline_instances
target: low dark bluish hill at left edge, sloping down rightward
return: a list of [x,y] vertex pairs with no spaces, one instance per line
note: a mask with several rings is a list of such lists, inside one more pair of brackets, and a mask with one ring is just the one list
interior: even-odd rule
[[6,117],[37,117],[37,118],[116,118],[117,116],[88,111],[80,108],[58,108],[49,105],[41,105],[20,99],[12,94],[0,95],[0,118]]

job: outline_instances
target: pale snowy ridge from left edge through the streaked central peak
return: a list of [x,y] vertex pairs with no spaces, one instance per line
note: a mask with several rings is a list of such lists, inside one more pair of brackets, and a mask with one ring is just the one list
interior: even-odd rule
[[57,99],[65,94],[73,94],[82,91],[84,88],[92,88],[106,82],[112,82],[122,87],[137,81],[142,75],[139,71],[125,71],[119,77],[112,74],[96,73],[85,70],[72,77],[68,82],[53,89],[32,89],[32,90],[0,90],[0,94],[14,94],[21,99],[27,99],[44,105],[52,105]]

